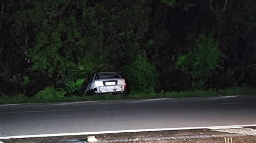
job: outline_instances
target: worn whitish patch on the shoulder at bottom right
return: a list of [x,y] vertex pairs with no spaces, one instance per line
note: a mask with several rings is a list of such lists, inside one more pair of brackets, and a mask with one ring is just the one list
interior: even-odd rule
[[226,132],[226,133],[237,133],[244,135],[256,135],[256,130],[253,128],[229,128],[223,130],[214,130],[218,132]]

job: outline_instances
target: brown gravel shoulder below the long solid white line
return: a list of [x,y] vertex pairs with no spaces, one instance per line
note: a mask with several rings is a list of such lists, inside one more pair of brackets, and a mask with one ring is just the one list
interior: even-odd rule
[[[255,127],[253,127],[255,128]],[[3,142],[86,142],[89,135],[23,138],[0,140]],[[91,135],[90,135],[91,136]],[[179,130],[95,135],[97,142],[256,142],[256,135],[219,132],[210,129]]]

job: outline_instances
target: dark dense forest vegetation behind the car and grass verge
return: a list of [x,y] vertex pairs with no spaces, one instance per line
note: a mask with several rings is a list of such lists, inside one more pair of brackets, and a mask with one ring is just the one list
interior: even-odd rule
[[82,95],[97,71],[133,92],[255,87],[256,1],[2,0],[0,96]]

